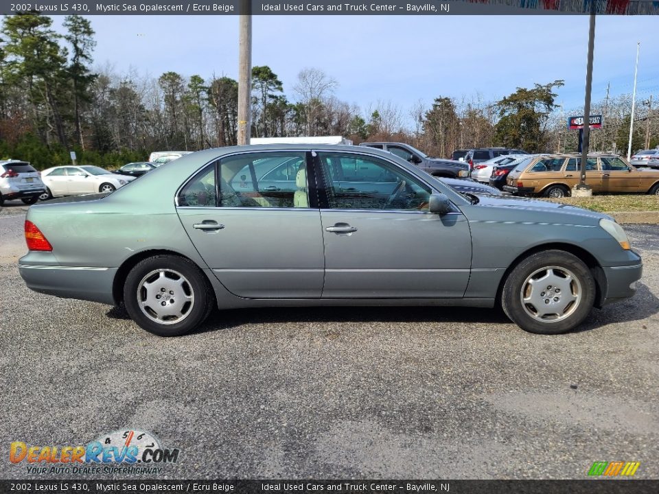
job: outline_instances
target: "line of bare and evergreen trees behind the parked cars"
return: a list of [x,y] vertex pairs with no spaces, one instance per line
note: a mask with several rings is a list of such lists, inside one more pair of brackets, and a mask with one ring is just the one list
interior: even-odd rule
[[[153,150],[200,150],[235,145],[238,82],[227,75],[159,78],[117,74],[93,65],[95,32],[82,16],[67,16],[66,34],[36,13],[5,16],[0,38],[0,157],[21,158],[38,168],[78,160],[106,167],[140,161]],[[304,68],[286,94],[268,66],[252,69],[252,137],[342,135],[411,143],[433,156],[454,149],[504,145],[529,152],[573,151],[577,132],[556,102],[562,80],[518,88],[496,102],[438,96],[430,107],[407,111],[390,101],[367,108],[341,101],[338,82],[321,69]],[[648,108],[649,110],[649,108]],[[591,149],[626,152],[631,102],[621,95],[597,102],[603,130]],[[641,105],[633,150],[659,144],[658,122]],[[409,122],[412,122],[410,128]]]

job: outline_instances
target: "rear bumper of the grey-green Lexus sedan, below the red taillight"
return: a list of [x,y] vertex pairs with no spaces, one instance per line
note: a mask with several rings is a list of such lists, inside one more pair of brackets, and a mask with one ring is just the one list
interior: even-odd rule
[[[35,252],[36,253],[36,252]],[[32,252],[19,260],[19,272],[30,290],[62,298],[115,305],[112,286],[117,268],[30,263]],[[45,252],[39,252],[42,257]]]

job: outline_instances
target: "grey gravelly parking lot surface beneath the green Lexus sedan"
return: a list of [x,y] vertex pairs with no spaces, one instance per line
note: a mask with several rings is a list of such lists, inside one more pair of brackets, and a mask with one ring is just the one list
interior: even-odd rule
[[10,463],[12,441],[128,428],[181,450],[148,478],[581,479],[614,460],[659,478],[656,225],[625,228],[636,296],[567,335],[489,309],[336,307],[216,311],[164,339],[27,290],[24,216],[0,213],[0,478],[44,478]]

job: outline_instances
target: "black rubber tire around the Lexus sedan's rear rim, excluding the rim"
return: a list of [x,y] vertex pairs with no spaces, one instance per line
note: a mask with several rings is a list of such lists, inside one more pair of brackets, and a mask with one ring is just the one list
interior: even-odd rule
[[[181,322],[161,325],[148,318],[139,307],[137,287],[149,272],[170,269],[183,274],[194,292],[194,305],[191,313]],[[124,305],[130,318],[137,324],[158,336],[181,336],[200,325],[208,316],[213,303],[210,285],[205,274],[188,259],[174,255],[157,255],[144,259],[135,265],[124,283]]]

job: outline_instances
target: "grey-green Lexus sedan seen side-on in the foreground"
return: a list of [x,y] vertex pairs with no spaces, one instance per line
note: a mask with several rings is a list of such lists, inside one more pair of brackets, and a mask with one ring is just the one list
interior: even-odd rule
[[562,333],[632,296],[643,265],[611,217],[463,195],[391,153],[261,145],[195,152],[106,195],[30,207],[36,292],[123,303],[161,336],[213,307],[500,304]]

